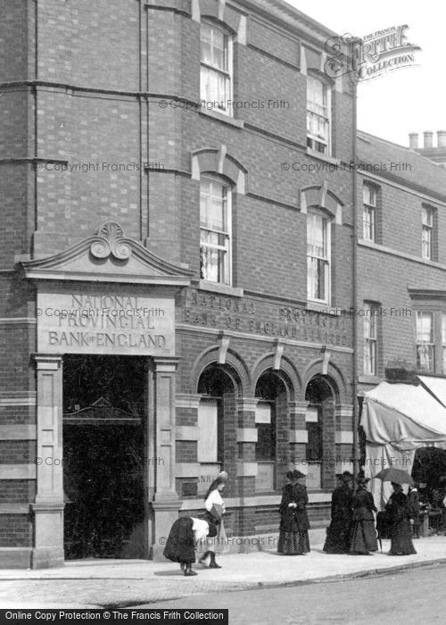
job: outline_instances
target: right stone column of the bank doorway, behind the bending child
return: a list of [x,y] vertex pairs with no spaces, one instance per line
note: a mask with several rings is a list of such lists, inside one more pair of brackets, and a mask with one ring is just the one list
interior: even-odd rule
[[[172,523],[178,518],[181,500],[175,490],[175,372],[178,358],[153,358],[153,401],[149,402],[148,432],[154,446],[146,447],[146,470],[149,474],[150,552],[153,560],[161,560],[165,539]],[[150,388],[149,388],[150,392]],[[150,474],[153,474],[153,478]],[[153,485],[153,486],[152,486]]]

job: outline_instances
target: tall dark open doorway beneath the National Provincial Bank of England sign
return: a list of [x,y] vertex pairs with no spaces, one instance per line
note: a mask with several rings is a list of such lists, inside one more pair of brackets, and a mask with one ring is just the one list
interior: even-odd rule
[[64,356],[67,559],[144,555],[144,365],[128,356]]

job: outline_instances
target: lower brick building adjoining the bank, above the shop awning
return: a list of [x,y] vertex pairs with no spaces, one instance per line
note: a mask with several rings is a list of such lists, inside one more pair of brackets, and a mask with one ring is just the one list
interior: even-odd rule
[[359,132],[358,154],[359,391],[389,366],[446,376],[446,172],[413,142]]

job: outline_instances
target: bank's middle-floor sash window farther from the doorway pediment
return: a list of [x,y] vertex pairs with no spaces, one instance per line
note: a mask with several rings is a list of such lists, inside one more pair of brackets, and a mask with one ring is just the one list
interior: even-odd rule
[[330,221],[320,212],[307,215],[307,291],[308,298],[330,301]]

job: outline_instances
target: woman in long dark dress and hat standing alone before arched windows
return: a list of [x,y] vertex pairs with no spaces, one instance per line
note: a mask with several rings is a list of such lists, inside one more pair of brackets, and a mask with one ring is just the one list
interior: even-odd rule
[[308,554],[310,523],[307,516],[307,488],[299,484],[305,476],[293,471],[291,483],[284,487],[279,512],[281,515],[277,552],[285,555]]

